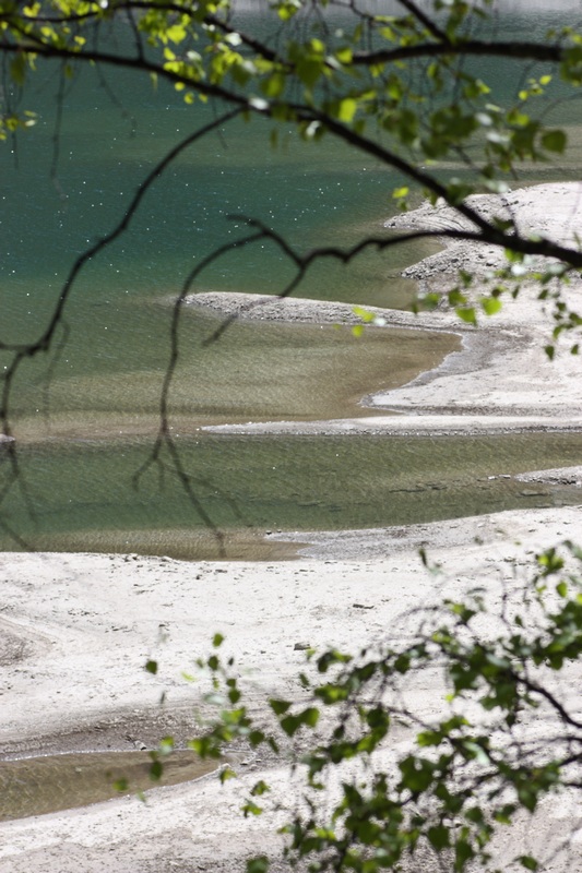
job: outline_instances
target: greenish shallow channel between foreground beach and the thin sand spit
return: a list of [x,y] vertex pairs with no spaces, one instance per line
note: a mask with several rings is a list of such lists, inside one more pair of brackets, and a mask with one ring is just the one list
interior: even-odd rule
[[[204,559],[216,557],[219,543],[202,509],[225,531],[226,557],[251,559],[273,557],[258,545],[264,530],[381,527],[582,502],[573,487],[488,478],[579,464],[575,433],[204,434],[177,444],[198,507],[169,469],[153,467],[139,490],[132,487],[128,470],[147,457],[142,440],[43,444],[22,452],[27,490],[14,494],[10,523],[38,549]],[[57,478],[59,491],[51,489]],[[21,547],[0,533],[0,548]]]

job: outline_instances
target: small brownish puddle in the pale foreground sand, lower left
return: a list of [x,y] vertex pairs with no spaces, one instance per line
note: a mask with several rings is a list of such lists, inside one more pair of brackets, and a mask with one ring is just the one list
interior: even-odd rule
[[[152,779],[145,752],[82,752],[0,762],[0,822],[99,803],[123,793],[199,779],[216,769],[193,752],[177,751],[164,760],[164,773]],[[116,781],[127,788],[118,790]]]

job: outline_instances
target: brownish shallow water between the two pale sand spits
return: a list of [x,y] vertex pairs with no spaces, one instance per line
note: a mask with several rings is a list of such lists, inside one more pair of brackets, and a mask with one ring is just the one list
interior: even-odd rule
[[[169,307],[126,306],[104,318],[110,355],[102,342],[75,338],[48,382],[43,378],[44,362],[23,369],[13,406],[19,441],[99,439],[155,430]],[[152,342],[143,355],[127,349],[120,362],[115,349],[122,346],[130,320]],[[446,333],[368,328],[355,337],[345,325],[262,322],[235,323],[205,347],[219,324],[194,309],[183,313],[170,396],[173,423],[179,430],[251,419],[367,415],[369,410],[358,404],[369,391],[408,382],[460,347],[459,338]]]

